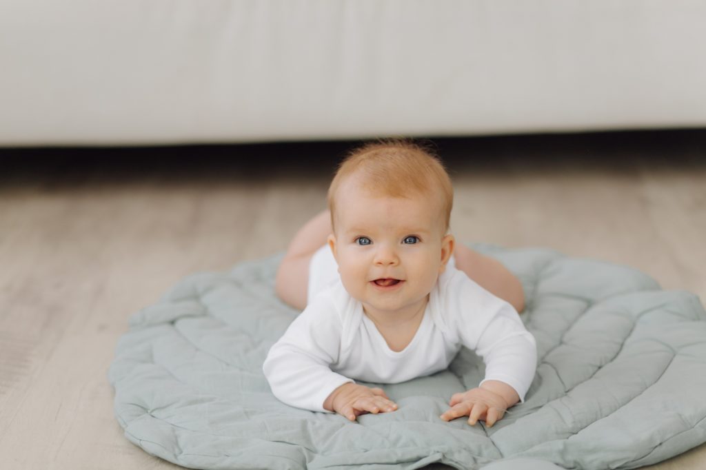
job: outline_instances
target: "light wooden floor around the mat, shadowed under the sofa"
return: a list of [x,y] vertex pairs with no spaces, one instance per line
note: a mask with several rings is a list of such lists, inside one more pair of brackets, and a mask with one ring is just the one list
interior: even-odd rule
[[[435,143],[457,239],[624,263],[706,299],[706,131]],[[192,272],[284,250],[349,145],[0,152],[2,468],[177,468],[113,416],[128,316]],[[657,468],[706,468],[706,447]]]

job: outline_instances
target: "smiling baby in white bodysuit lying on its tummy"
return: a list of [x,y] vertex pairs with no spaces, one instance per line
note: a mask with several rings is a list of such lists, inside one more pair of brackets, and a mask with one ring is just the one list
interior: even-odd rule
[[484,358],[485,378],[454,394],[441,419],[493,426],[524,399],[537,349],[515,308],[489,292],[521,309],[517,279],[448,234],[453,189],[441,163],[407,142],[365,145],[340,165],[328,204],[330,225],[319,215],[304,227],[277,273],[282,299],[308,305],[265,359],[275,397],[351,421],[395,411],[383,390],[353,379],[429,375],[467,347]]

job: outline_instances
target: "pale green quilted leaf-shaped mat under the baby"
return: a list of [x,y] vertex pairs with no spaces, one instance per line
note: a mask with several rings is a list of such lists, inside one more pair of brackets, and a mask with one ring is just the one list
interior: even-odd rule
[[197,469],[635,468],[706,442],[706,313],[630,267],[545,249],[474,245],[522,279],[537,375],[493,428],[438,418],[483,363],[383,385],[400,408],[342,416],[291,408],[261,371],[297,315],[274,294],[280,256],[179,282],[131,317],[109,370],[126,437]]

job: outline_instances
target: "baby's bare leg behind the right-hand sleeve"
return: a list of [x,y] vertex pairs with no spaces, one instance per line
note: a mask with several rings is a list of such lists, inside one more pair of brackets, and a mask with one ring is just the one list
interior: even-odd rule
[[515,310],[525,310],[525,292],[517,279],[500,261],[481,255],[461,243],[453,251],[456,268],[466,273],[491,294],[508,301]]

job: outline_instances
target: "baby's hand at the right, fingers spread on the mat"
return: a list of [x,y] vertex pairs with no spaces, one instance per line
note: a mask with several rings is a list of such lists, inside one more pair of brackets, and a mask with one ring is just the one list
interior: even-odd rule
[[451,421],[460,416],[468,416],[468,423],[471,426],[481,419],[491,428],[503,418],[510,406],[520,400],[515,389],[503,382],[489,380],[483,385],[467,392],[454,394],[449,402],[451,408],[441,415],[441,419]]

